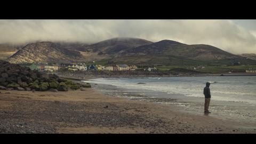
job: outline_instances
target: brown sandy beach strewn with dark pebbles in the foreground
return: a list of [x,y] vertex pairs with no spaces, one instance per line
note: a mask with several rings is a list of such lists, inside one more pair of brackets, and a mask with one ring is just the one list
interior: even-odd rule
[[86,91],[0,93],[0,133],[256,133],[178,107]]

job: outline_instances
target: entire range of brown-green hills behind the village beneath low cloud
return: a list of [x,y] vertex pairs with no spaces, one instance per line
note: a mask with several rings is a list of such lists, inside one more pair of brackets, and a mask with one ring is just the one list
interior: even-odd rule
[[95,44],[41,42],[28,44],[9,58],[21,62],[92,62],[135,65],[256,65],[255,60],[205,44],[171,40],[150,42],[140,38],[112,38]]

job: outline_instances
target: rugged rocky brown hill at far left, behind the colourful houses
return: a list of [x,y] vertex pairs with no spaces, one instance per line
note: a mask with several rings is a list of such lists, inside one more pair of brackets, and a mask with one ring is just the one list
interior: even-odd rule
[[10,63],[73,62],[83,59],[77,51],[64,49],[52,42],[31,43],[14,53]]

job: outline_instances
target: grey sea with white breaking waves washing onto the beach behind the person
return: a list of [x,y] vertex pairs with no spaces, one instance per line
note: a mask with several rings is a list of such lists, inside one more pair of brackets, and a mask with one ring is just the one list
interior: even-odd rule
[[103,94],[176,105],[198,115],[203,114],[203,89],[210,82],[211,116],[256,126],[256,76],[98,78],[84,82]]

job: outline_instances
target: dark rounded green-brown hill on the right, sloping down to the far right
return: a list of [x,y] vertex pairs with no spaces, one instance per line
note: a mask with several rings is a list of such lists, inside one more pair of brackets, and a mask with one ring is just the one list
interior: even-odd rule
[[[231,65],[235,62],[256,64],[256,61],[246,60],[239,55],[228,53],[211,45],[187,45],[171,40],[163,40],[126,50],[119,60],[125,61],[125,59],[141,64],[147,61],[147,63],[154,62],[159,65],[193,65],[193,63]],[[116,61],[118,60],[116,59]]]

